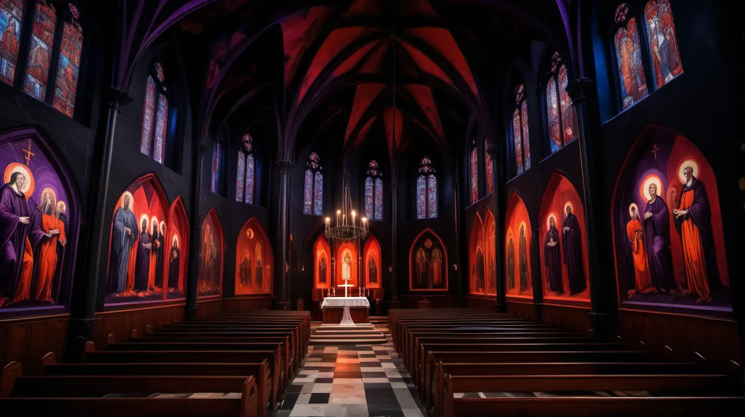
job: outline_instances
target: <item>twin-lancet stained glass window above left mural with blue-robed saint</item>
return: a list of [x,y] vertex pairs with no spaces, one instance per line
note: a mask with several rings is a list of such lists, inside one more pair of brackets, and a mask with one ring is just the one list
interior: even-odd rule
[[168,89],[165,88],[163,66],[155,63],[151,72],[145,85],[140,152],[153,156],[153,159],[162,164],[165,156],[165,137],[168,133]]

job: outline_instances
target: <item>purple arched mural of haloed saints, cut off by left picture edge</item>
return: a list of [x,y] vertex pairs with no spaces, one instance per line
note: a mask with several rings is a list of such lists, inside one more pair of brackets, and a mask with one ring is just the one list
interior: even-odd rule
[[64,308],[77,249],[69,176],[34,130],[0,136],[0,316]]

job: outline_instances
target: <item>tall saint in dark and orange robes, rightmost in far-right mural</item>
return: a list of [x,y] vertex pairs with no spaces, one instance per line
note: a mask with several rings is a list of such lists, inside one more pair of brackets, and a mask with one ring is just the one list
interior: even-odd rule
[[710,302],[711,291],[720,284],[711,235],[711,208],[706,187],[694,176],[694,169],[683,168],[683,176],[688,181],[680,191],[673,216],[682,243],[685,278],[688,291],[698,296],[697,302]]

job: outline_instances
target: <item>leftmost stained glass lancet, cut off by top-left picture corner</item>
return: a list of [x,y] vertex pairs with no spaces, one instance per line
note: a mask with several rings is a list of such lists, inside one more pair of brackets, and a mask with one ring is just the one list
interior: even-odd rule
[[0,80],[13,85],[21,42],[24,0],[0,0]]

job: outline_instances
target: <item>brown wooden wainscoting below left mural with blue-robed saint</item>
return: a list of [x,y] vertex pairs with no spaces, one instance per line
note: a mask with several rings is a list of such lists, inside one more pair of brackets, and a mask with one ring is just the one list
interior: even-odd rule
[[97,350],[103,350],[109,334],[114,335],[116,342],[126,342],[132,337],[133,331],[136,335],[141,335],[146,325],[157,330],[168,323],[181,322],[185,313],[186,304],[183,302],[127,310],[101,311],[95,315],[98,321],[93,326],[93,342]]

